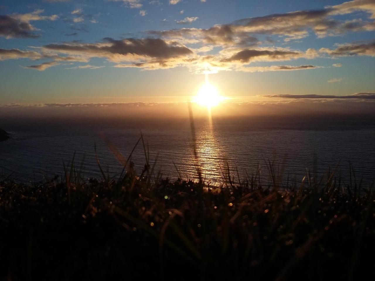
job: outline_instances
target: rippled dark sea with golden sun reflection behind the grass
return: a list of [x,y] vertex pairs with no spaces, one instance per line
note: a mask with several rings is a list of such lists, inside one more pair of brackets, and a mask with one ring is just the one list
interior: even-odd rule
[[[187,120],[141,121],[11,121],[1,124],[12,138],[0,142],[0,171],[18,181],[40,181],[42,176],[63,175],[63,162],[84,164],[84,176],[100,176],[98,157],[110,175],[118,175],[121,165],[103,141],[108,138],[128,157],[142,131],[150,162],[155,171],[176,178],[197,178],[196,163],[207,181],[220,184],[227,174],[227,164],[240,177],[254,173],[258,165],[268,178],[266,162],[286,161],[285,178],[295,174],[301,180],[306,168],[312,170],[316,159],[322,174],[339,162],[338,175],[349,181],[351,162],[359,181],[369,185],[375,175],[375,121],[364,120],[253,120],[228,118],[195,123],[196,150],[193,156],[192,135]],[[145,163],[141,143],[132,161],[141,172]],[[277,164],[276,164],[277,166]],[[176,171],[176,167],[178,172]]]

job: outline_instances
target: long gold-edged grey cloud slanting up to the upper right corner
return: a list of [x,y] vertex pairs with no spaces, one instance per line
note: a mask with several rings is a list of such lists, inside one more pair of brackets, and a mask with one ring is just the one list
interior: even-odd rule
[[326,36],[338,36],[350,31],[374,31],[374,21],[363,19],[343,21],[335,18],[335,15],[338,14],[354,13],[357,11],[373,13],[375,10],[374,3],[373,0],[354,0],[321,10],[302,10],[244,18],[230,24],[215,25],[208,29],[182,28],[149,31],[149,33],[171,40],[187,41],[196,39],[228,46],[235,46],[238,42],[242,41],[242,38],[254,37],[255,34],[278,35],[284,37],[285,42],[289,42],[308,37],[312,31],[317,37],[323,38]]

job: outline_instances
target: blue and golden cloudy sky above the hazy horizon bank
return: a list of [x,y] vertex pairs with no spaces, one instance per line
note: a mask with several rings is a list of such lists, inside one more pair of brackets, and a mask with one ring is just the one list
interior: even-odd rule
[[374,31],[374,0],[2,0],[0,104],[178,102],[205,74],[232,100],[369,102]]

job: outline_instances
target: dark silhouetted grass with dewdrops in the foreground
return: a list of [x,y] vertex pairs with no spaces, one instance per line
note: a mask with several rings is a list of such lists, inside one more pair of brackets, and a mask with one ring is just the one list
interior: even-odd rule
[[210,187],[117,157],[117,179],[2,176],[1,280],[372,280],[374,196],[354,175],[285,183],[270,163],[268,186]]

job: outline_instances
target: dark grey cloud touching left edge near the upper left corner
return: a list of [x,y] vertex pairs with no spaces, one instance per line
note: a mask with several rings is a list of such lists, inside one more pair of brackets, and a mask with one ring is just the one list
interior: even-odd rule
[[36,38],[39,37],[34,31],[37,29],[30,24],[30,21],[50,20],[54,21],[57,15],[41,16],[43,10],[37,9],[32,13],[0,15],[0,36],[9,38]]

